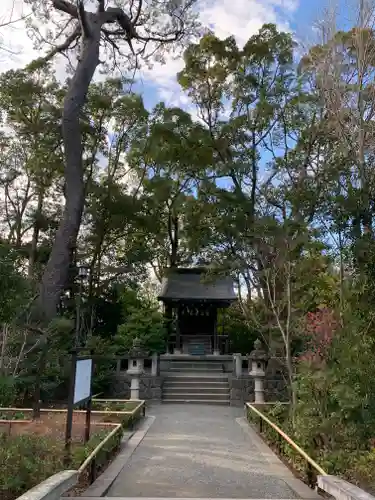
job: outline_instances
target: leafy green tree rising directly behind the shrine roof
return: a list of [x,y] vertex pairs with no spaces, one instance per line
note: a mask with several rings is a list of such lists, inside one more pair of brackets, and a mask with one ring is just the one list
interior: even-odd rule
[[207,139],[207,130],[189,113],[160,103],[129,151],[129,163],[141,179],[149,235],[144,246],[159,280],[164,268],[191,262],[198,250],[189,221],[197,205],[195,191],[212,163]]

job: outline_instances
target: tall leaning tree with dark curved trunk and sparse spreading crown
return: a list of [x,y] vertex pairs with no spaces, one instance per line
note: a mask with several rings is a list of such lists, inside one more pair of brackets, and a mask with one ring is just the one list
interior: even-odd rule
[[[137,55],[147,59],[150,56],[147,50],[154,54],[164,50],[168,44],[176,45],[189,38],[197,25],[196,15],[191,8],[193,0],[178,4],[168,0],[143,4],[140,0],[136,6],[131,5],[130,15],[118,4],[116,7],[106,7],[104,0],[96,2],[95,12],[86,10],[82,0],[78,0],[76,4],[69,0],[52,0],[52,12],[49,3],[43,5],[34,0],[28,2],[32,5],[35,16],[44,24],[51,18],[51,22],[57,24],[58,19],[61,20],[59,14],[62,13],[64,16],[65,30],[62,34],[59,28],[57,38],[65,36],[65,39],[37,64],[49,61],[55,54],[66,52],[79,42],[77,65],[63,105],[66,203],[52,252],[43,273],[38,299],[38,314],[48,321],[56,314],[60,295],[67,281],[84,208],[80,115],[89,85],[100,63],[100,49],[109,48],[114,51],[117,61],[125,44],[130,51],[128,52],[130,58],[132,54],[135,61]],[[137,53],[133,48],[133,42],[140,46]],[[149,49],[150,43],[153,46]]]

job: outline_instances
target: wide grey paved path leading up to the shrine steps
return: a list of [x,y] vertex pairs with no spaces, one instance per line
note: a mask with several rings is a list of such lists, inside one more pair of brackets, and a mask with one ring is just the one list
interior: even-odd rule
[[242,409],[161,405],[108,497],[316,498],[241,418]]

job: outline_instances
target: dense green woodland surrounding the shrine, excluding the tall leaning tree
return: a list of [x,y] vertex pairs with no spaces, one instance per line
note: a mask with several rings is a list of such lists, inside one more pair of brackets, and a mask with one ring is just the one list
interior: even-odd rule
[[[122,355],[137,336],[163,352],[166,267],[209,264],[236,283],[232,350],[261,337],[282,360],[298,442],[373,481],[375,32],[360,14],[346,31],[327,19],[306,50],[272,24],[243,47],[206,32],[177,75],[193,114],[146,109],[110,73],[91,83],[84,210],[48,322],[34,304],[67,199],[71,79],[47,60],[1,75],[1,406],[64,393],[78,300],[87,349]],[[95,391],[111,370],[98,364]]]

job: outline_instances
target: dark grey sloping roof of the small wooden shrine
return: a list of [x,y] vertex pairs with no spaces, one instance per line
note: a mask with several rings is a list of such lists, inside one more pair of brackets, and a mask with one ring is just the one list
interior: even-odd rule
[[211,277],[202,268],[176,269],[164,278],[159,300],[205,300],[230,302],[237,300],[231,278]]

